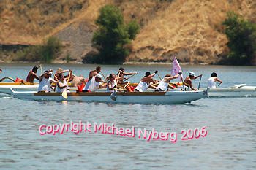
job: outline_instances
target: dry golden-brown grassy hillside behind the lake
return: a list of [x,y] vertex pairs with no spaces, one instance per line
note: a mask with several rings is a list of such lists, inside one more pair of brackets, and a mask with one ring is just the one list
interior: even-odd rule
[[120,7],[126,22],[140,23],[140,34],[129,45],[129,61],[172,61],[176,56],[184,62],[214,63],[227,52],[221,22],[228,10],[256,23],[255,0],[6,0],[0,1],[0,44],[37,45],[48,36],[69,35],[70,26],[92,34],[99,8],[109,3]]

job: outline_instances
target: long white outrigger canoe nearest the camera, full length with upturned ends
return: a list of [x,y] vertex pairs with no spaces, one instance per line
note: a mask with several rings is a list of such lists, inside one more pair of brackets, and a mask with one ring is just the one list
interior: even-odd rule
[[110,98],[110,92],[69,92],[67,99],[61,93],[15,91],[10,88],[12,97],[29,100],[50,101],[97,101],[127,104],[184,104],[208,96],[208,89],[198,91],[167,91],[167,92],[116,92],[116,101]]

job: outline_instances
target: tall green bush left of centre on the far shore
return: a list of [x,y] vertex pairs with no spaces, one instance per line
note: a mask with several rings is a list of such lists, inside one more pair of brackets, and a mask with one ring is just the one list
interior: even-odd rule
[[118,7],[108,4],[99,9],[99,16],[95,23],[99,27],[94,32],[92,46],[99,51],[91,59],[93,63],[123,62],[129,50],[124,45],[131,42],[139,34],[140,26],[135,20],[125,26],[124,16]]

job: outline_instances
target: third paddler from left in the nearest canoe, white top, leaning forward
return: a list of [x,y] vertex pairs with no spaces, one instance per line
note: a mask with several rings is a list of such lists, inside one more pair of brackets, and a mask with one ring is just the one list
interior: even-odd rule
[[99,73],[95,76],[92,75],[93,74],[91,74],[91,77],[89,77],[88,82],[84,86],[83,92],[95,92],[96,90],[98,90],[98,88],[107,87],[107,85],[102,85],[102,83],[100,82],[102,80],[102,75],[100,75]]

